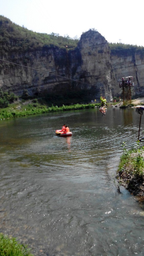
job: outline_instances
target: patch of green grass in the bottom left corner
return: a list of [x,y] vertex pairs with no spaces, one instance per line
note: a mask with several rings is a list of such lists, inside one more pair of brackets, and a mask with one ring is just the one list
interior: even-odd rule
[[0,233],[1,256],[33,256],[30,250],[31,249],[28,249],[27,246],[18,243],[16,238],[8,238],[8,236]]

